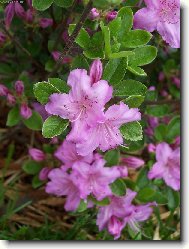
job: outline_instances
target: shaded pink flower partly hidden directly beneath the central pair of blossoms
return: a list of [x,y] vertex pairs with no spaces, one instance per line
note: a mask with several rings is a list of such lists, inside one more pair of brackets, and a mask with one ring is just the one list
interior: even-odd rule
[[64,140],[54,155],[69,168],[71,168],[75,162],[91,163],[93,161],[92,153],[85,157],[80,156],[76,151],[76,145],[67,140]]

